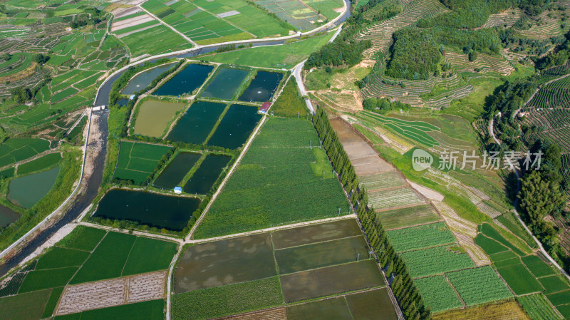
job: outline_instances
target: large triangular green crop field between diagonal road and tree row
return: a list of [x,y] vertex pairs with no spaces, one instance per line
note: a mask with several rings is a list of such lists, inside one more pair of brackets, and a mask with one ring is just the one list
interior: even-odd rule
[[[289,141],[288,137],[295,136]],[[307,148],[311,141],[318,145],[316,131],[308,120],[270,118],[194,237],[336,217],[339,208],[342,214],[348,213],[348,201],[338,181],[314,174],[311,162],[316,158]],[[315,198],[320,201],[315,202]]]

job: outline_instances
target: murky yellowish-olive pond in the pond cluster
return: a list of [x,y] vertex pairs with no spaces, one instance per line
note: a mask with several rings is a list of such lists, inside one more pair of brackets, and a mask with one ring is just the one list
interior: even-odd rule
[[184,109],[184,106],[185,103],[145,100],[137,115],[135,134],[162,137],[170,120]]

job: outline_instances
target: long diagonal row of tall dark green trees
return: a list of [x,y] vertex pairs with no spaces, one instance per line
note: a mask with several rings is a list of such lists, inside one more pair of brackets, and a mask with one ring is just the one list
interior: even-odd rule
[[366,190],[363,186],[358,185],[358,177],[354,167],[323,108],[317,107],[313,124],[323,141],[323,147],[328,158],[331,159],[346,192],[351,197],[351,204],[356,210],[358,220],[360,220],[368,242],[375,252],[375,259],[383,268],[406,319],[431,319],[430,308],[425,307],[422,295],[410,277],[410,269],[395,252],[382,222],[376,217],[374,209],[368,207]]

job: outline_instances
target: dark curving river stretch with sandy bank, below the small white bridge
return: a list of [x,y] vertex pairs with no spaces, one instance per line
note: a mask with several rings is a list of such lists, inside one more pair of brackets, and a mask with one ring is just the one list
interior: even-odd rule
[[36,249],[53,236],[58,229],[75,220],[81,215],[81,212],[87,209],[91,202],[93,202],[93,199],[95,199],[99,185],[103,180],[103,166],[105,165],[107,136],[109,133],[107,123],[109,113],[108,110],[105,110],[104,112],[93,113],[93,115],[95,116],[93,117],[93,123],[91,123],[91,131],[95,131],[99,134],[98,137],[94,137],[93,134],[90,134],[86,150],[86,164],[93,169],[85,170],[83,180],[80,182],[82,184],[81,189],[75,198],[73,198],[73,205],[68,207],[58,222],[39,232],[33,240],[24,244],[17,254],[6,259],[4,264],[0,266],[0,277],[3,277],[10,269],[24,261],[29,254],[36,251]]

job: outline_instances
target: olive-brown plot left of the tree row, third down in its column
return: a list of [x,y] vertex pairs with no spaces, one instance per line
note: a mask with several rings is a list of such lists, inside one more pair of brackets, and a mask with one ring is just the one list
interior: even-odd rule
[[[346,277],[347,274],[352,276]],[[373,260],[281,276],[281,289],[285,302],[288,303],[383,286],[385,286],[384,278]]]

